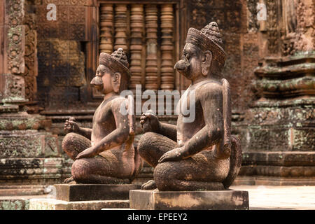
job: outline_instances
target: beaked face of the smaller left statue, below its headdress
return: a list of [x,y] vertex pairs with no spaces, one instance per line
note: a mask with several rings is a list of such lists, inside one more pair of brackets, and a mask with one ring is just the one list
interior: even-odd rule
[[97,67],[95,77],[91,80],[91,84],[104,94],[113,92],[113,86],[111,82],[111,73],[109,69],[103,64]]

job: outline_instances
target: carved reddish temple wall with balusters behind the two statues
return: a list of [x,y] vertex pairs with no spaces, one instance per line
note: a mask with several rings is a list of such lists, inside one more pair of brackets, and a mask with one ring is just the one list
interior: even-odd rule
[[[56,20],[47,18],[48,3],[57,7]],[[71,160],[61,149],[64,120],[75,116],[90,127],[102,101],[90,86],[99,52],[127,52],[130,90],[137,84],[185,90],[190,83],[172,66],[188,28],[211,21],[223,34],[232,132],[244,152],[236,183],[272,177],[263,183],[314,184],[314,2],[147,3],[1,0],[0,184],[48,184],[70,175]],[[258,20],[257,3],[266,6],[265,20]],[[176,116],[160,120],[176,124]],[[139,115],[136,134],[135,146]],[[144,167],[139,181],[151,176]]]

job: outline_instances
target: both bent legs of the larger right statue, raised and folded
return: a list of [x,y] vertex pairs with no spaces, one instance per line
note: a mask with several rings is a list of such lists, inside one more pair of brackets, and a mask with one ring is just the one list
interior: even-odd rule
[[216,159],[209,149],[186,160],[158,163],[164,153],[176,146],[172,139],[154,132],[146,132],[139,141],[139,154],[155,167],[153,176],[159,190],[225,189],[222,182],[230,171],[230,159]]

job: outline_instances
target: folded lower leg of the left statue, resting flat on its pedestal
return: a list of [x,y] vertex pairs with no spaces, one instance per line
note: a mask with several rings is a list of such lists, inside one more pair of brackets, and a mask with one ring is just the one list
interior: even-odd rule
[[120,164],[111,158],[97,155],[73,162],[71,174],[77,183],[130,183],[130,179],[119,171]]

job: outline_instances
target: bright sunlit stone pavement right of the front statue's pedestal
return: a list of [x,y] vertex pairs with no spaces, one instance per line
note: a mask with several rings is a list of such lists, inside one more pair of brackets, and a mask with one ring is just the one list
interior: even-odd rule
[[231,186],[247,190],[249,209],[315,210],[315,186]]

